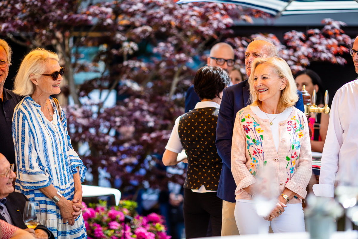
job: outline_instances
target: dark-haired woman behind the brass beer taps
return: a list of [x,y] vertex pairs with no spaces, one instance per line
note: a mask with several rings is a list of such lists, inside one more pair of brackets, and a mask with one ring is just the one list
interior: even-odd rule
[[[323,107],[323,86],[319,75],[312,70],[299,71],[295,75],[295,81],[297,89],[302,90],[302,87],[306,86],[306,91],[312,96],[313,90],[316,90],[316,105]],[[312,99],[311,99],[312,102]],[[311,113],[308,125],[312,131],[311,137],[311,148],[314,152],[322,153],[324,141],[326,140],[327,129],[328,129],[329,115],[328,114],[317,114]]]

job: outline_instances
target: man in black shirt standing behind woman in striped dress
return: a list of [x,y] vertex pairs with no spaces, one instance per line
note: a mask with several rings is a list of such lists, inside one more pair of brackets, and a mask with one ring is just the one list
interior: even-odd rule
[[10,163],[15,163],[15,150],[13,136],[11,135],[11,121],[14,108],[21,97],[11,90],[4,88],[11,65],[11,48],[7,42],[0,39],[0,153],[4,154]]

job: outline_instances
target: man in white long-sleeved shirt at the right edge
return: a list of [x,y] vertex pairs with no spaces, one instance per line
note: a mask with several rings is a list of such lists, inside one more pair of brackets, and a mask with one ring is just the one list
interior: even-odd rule
[[[358,37],[352,49],[358,74]],[[333,197],[335,183],[354,180],[358,170],[358,80],[343,85],[335,94],[330,111],[327,137],[323,148],[319,184],[313,186],[316,196]],[[350,177],[350,178],[349,178]]]

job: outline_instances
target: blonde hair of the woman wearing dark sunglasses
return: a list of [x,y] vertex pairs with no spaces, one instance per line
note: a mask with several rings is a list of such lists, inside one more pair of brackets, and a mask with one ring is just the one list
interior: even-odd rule
[[35,85],[30,80],[30,75],[34,74],[32,78],[39,78],[46,71],[46,63],[49,59],[59,61],[56,53],[43,48],[30,51],[20,64],[15,77],[13,92],[20,96],[33,94]]

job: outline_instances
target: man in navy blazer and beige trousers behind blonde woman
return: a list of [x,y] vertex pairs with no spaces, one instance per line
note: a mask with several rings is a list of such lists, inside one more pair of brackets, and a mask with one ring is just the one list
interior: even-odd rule
[[[254,38],[245,52],[245,69],[249,77],[251,63],[255,58],[277,56],[275,45],[265,38]],[[295,107],[304,111],[302,92],[297,91],[299,100]],[[223,91],[216,128],[216,147],[223,160],[217,196],[223,200],[221,235],[239,233],[234,218],[236,184],[231,173],[231,141],[236,113],[248,105],[250,97],[248,80],[230,86]]]

